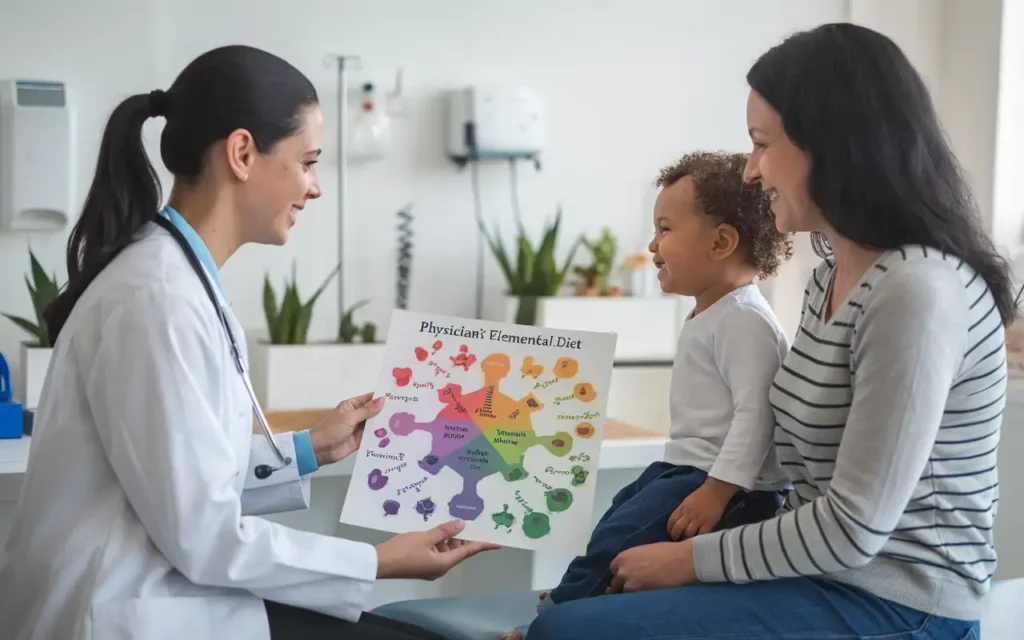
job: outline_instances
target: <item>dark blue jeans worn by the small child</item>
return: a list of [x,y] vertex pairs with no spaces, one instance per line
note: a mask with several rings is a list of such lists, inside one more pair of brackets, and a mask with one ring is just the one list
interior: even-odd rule
[[[609,567],[616,555],[642,545],[668,542],[669,516],[679,503],[695,492],[708,474],[694,467],[667,462],[651,464],[636,480],[612,499],[601,516],[587,553],[571,563],[561,583],[551,590],[541,608],[604,593],[611,584]],[[738,492],[725,508],[719,529],[767,520],[782,505],[778,492]]]

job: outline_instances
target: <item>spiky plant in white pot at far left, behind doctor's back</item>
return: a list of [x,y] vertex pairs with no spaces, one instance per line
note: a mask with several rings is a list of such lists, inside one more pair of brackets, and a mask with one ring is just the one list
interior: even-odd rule
[[35,319],[9,313],[3,315],[31,336],[31,339],[22,343],[20,369],[14,382],[14,389],[25,408],[32,410],[39,403],[39,394],[43,389],[43,381],[46,379],[50,355],[53,352],[43,311],[56,298],[60,287],[57,285],[56,274],[52,278],[47,275],[31,249],[29,262],[32,280],[26,275],[25,284],[29,289]]

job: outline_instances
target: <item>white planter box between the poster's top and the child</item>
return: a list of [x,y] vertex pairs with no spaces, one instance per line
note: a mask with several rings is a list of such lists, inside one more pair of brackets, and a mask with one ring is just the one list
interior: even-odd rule
[[[486,318],[511,323],[518,307],[518,298],[503,296]],[[537,326],[618,334],[616,362],[669,361],[676,355],[679,330],[692,308],[693,299],[680,296],[556,296],[537,301]]]

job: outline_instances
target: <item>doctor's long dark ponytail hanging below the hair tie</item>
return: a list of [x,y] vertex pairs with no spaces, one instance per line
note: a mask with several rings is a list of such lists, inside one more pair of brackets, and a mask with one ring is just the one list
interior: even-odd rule
[[106,122],[96,173],[68,240],[68,286],[45,311],[50,344],[88,286],[160,207],[160,179],[142,144],[142,125],[160,114],[162,102],[162,92],[133,95]]

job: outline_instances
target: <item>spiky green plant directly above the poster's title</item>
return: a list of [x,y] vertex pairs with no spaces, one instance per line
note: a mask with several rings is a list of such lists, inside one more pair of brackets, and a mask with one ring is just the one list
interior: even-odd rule
[[498,260],[498,264],[505,274],[508,295],[519,299],[515,314],[517,325],[537,324],[538,300],[558,293],[565,281],[565,274],[572,262],[572,257],[580,247],[581,239],[577,238],[569,247],[565,261],[561,265],[557,264],[555,252],[561,220],[562,211],[559,208],[555,213],[555,219],[550,223],[545,223],[541,243],[536,248],[526,234],[522,220],[516,220],[515,246],[508,250],[502,241],[501,231],[496,229],[494,237],[492,237],[483,223],[478,221],[480,232],[486,239],[492,253],[495,254],[495,259]]

